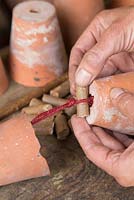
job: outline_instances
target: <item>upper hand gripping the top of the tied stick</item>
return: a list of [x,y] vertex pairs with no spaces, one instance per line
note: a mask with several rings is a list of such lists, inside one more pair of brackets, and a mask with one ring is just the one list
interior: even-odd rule
[[134,7],[100,12],[72,49],[71,93],[75,83],[89,85],[97,76],[134,70]]

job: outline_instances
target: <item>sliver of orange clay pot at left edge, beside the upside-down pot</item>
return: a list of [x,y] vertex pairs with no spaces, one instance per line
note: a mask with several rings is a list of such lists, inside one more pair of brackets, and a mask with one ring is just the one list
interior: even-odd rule
[[4,69],[4,65],[0,58],[0,95],[2,95],[8,88],[8,79]]

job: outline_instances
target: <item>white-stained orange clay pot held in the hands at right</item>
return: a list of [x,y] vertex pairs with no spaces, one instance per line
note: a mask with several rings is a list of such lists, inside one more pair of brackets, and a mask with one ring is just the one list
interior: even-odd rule
[[91,125],[100,126],[121,133],[134,133],[134,122],[122,115],[110,99],[112,88],[124,88],[134,93],[134,72],[119,74],[95,80],[90,86],[90,94],[94,103],[87,121]]

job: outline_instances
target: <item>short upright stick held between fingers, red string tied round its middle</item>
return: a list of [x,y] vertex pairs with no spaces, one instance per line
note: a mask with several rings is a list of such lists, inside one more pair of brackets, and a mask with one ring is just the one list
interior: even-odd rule
[[[89,96],[88,87],[76,86],[76,98],[87,99]],[[80,103],[77,105],[77,116],[87,117],[89,116],[89,105],[88,103]]]

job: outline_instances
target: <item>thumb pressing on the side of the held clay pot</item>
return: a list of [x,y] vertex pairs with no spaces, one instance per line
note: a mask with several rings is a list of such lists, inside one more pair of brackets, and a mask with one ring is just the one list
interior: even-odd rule
[[110,97],[113,105],[129,119],[134,120],[134,94],[121,88],[111,90]]

